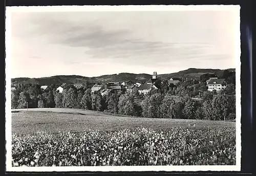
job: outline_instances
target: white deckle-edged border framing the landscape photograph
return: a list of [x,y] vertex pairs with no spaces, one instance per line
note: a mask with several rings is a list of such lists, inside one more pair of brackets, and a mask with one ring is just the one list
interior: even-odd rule
[[[236,165],[215,166],[64,166],[64,167],[12,167],[11,156],[11,13],[60,11],[225,11],[237,12],[236,53]],[[129,6],[16,6],[6,7],[6,171],[241,171],[241,48],[239,5],[129,5]]]

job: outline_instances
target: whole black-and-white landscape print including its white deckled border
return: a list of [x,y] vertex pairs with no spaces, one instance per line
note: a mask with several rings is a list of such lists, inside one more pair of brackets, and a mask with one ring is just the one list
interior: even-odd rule
[[6,8],[7,171],[240,171],[240,6]]

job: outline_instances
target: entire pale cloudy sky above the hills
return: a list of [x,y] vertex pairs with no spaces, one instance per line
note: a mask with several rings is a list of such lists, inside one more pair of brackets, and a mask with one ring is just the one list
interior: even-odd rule
[[11,12],[11,77],[236,68],[236,15],[233,10]]

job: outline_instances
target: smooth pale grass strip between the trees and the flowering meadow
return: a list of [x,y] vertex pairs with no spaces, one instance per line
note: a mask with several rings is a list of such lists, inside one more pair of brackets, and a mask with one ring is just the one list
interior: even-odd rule
[[89,129],[114,131],[135,129],[137,127],[168,130],[172,127],[194,126],[199,129],[209,127],[232,127],[235,123],[207,120],[153,119],[119,117],[104,115],[99,112],[66,108],[14,109],[12,112],[12,133],[33,134],[36,131],[58,133],[59,131],[88,131]]

